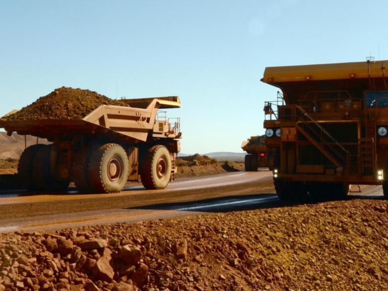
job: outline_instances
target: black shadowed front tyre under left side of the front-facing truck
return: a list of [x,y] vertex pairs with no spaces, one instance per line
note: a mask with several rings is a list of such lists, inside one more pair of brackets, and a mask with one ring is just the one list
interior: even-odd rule
[[275,179],[275,190],[282,201],[303,202],[307,199],[307,189],[301,182],[285,182]]

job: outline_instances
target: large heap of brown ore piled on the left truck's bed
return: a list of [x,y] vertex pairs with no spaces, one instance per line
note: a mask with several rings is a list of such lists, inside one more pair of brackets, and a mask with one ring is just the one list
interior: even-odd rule
[[97,92],[61,87],[3,120],[81,119],[100,105],[127,106]]

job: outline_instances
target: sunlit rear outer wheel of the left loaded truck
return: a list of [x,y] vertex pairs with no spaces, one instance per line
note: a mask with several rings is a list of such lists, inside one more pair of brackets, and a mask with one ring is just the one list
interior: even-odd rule
[[88,165],[90,185],[100,193],[120,192],[130,174],[128,156],[121,145],[107,143],[94,149]]

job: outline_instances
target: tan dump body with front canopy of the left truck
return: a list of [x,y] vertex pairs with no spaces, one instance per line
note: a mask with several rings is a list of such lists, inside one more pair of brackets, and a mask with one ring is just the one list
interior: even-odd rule
[[128,106],[101,105],[82,119],[0,120],[0,127],[9,134],[18,132],[49,140],[58,134],[82,133],[130,137],[136,142],[146,141],[151,131],[159,137],[179,137],[178,128],[171,127],[167,120],[156,121],[159,109],[180,107],[177,96],[121,101]]

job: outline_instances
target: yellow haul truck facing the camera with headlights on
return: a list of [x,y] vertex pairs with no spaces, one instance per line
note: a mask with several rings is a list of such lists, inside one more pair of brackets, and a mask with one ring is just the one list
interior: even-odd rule
[[264,107],[281,199],[340,198],[351,184],[382,185],[388,196],[386,63],[265,69],[262,81],[284,95]]

